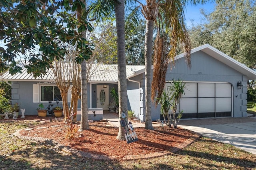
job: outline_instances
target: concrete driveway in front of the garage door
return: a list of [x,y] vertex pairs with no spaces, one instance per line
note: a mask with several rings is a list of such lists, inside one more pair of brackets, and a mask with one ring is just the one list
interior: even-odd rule
[[256,154],[256,117],[181,120],[178,127]]

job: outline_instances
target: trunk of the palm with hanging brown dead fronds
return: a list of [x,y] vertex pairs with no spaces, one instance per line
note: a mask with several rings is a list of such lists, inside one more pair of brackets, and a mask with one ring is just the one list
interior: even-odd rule
[[153,46],[154,20],[147,20],[145,34],[145,98],[146,98],[146,121],[145,128],[154,130],[151,119],[151,66]]

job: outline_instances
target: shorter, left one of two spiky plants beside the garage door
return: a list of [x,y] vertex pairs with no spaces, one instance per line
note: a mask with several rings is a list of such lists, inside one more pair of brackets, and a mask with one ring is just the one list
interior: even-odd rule
[[[170,91],[167,91],[164,89],[162,92],[161,97],[157,98],[158,99],[158,105],[161,105],[160,110],[161,110],[161,114],[164,117],[164,123],[168,126],[171,127],[171,119],[170,119],[170,108],[171,108],[171,103],[170,103]],[[166,118],[167,117],[167,121],[166,122]]]

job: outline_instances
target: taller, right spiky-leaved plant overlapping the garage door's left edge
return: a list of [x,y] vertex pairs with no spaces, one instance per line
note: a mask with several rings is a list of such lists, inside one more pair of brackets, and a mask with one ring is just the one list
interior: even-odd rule
[[181,79],[175,80],[172,79],[172,83],[170,86],[168,86],[170,93],[171,93],[171,105],[172,105],[172,122],[173,122],[173,128],[177,128],[177,124],[180,121],[180,118],[182,117],[182,112],[179,111],[178,116],[176,117],[176,111],[177,111],[177,105],[180,102],[180,97],[182,95],[185,95],[184,89],[186,83],[184,83]]

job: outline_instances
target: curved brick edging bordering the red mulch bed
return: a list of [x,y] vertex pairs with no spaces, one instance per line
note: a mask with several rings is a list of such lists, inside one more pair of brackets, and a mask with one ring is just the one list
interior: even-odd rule
[[168,154],[177,152],[178,150],[181,150],[181,149],[185,148],[186,146],[195,142],[198,138],[200,138],[200,136],[202,136],[200,133],[196,133],[192,137],[190,137],[188,140],[183,142],[182,144],[179,144],[178,146],[172,147],[172,148],[170,148],[169,150],[166,150],[166,151],[159,151],[159,152],[154,152],[154,153],[151,153],[151,154],[126,155],[123,158],[119,158],[119,156],[108,156],[108,155],[100,155],[100,154],[92,154],[92,153],[89,153],[89,152],[83,152],[83,151],[80,151],[80,150],[70,148],[68,146],[63,146],[62,144],[56,142],[53,139],[49,139],[49,138],[23,136],[23,135],[20,134],[20,130],[17,130],[14,133],[14,135],[19,137],[19,138],[39,140],[41,142],[46,142],[46,143],[51,144],[52,146],[54,146],[54,148],[56,148],[58,150],[61,150],[62,152],[66,152],[68,154],[71,154],[73,156],[80,156],[82,158],[92,158],[92,159],[95,159],[95,160],[106,160],[106,161],[110,161],[110,160],[138,160],[138,159],[147,159],[147,158],[154,158],[154,157],[160,157],[160,156],[168,155]]

